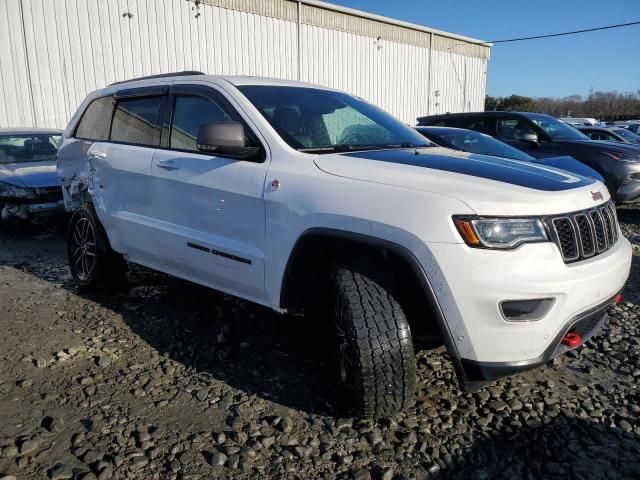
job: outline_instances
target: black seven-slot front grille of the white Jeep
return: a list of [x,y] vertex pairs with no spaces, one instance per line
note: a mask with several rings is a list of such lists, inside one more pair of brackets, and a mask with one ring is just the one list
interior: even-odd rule
[[576,262],[609,250],[620,238],[616,208],[612,202],[547,220],[553,241],[565,263]]

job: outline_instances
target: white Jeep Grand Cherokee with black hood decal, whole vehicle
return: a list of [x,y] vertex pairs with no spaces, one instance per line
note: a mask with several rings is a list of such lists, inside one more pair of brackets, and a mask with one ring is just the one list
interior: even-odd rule
[[631,264],[602,183],[431,148],[300,82],[113,84],[73,116],[58,176],[79,285],[127,260],[323,322],[361,417],[412,402],[414,336],[439,338],[468,391],[582,345]]

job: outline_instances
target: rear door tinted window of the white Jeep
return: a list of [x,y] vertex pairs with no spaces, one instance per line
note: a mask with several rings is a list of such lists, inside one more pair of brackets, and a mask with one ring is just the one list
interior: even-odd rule
[[111,140],[156,146],[160,144],[160,111],[164,97],[118,101],[111,126]]

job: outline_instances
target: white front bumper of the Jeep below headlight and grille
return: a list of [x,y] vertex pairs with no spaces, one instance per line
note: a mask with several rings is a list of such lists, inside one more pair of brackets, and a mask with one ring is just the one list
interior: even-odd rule
[[[429,248],[442,272],[434,290],[451,333],[450,348],[467,365],[543,361],[555,352],[558,337],[572,322],[608,304],[622,290],[632,258],[624,237],[608,251],[571,264],[564,263],[551,242],[511,251],[463,244]],[[553,298],[553,306],[534,321],[509,321],[500,311],[505,300],[544,298]]]

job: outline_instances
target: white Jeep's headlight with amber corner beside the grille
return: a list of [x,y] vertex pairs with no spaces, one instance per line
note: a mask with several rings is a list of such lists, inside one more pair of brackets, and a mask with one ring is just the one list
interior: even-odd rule
[[549,240],[539,218],[454,217],[453,222],[470,247],[509,249]]

